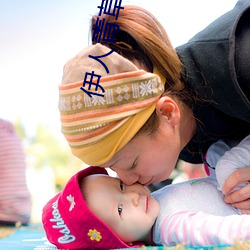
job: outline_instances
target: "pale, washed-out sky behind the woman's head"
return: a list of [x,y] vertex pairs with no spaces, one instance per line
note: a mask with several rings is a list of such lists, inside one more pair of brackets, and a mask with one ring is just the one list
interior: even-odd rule
[[[174,46],[185,43],[236,0],[123,0],[152,12]],[[58,85],[65,62],[88,46],[101,0],[0,0],[0,117],[29,134],[43,123],[59,138]]]

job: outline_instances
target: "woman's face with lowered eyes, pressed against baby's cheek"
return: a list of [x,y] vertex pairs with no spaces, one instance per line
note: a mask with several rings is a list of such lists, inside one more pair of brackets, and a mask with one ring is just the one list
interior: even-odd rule
[[154,136],[136,136],[101,167],[114,170],[127,185],[163,181],[170,176],[181,151],[177,130],[161,123]]

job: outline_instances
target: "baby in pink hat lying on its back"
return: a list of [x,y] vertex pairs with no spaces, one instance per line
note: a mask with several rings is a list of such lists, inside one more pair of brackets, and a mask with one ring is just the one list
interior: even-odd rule
[[[228,149],[222,141],[214,144],[208,151],[209,164],[220,157],[215,152]],[[220,158],[218,181],[210,169],[209,177],[169,185],[152,194],[141,184],[127,186],[103,168],[88,167],[71,177],[44,207],[47,238],[60,249],[207,246],[250,239],[250,216],[226,204],[219,190],[227,178],[220,175],[220,166],[224,173],[227,164],[229,174],[243,162],[246,166],[249,156],[250,136]]]

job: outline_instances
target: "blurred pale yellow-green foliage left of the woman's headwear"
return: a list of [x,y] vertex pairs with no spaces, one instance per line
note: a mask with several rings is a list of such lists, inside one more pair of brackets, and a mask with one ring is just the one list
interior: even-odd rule
[[15,123],[15,127],[23,141],[27,167],[51,167],[58,191],[74,173],[84,167],[83,162],[72,155],[66,140],[56,138],[45,125],[39,124],[32,137],[27,136],[20,120]]

